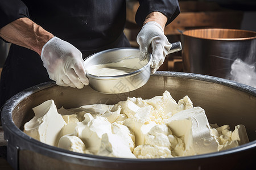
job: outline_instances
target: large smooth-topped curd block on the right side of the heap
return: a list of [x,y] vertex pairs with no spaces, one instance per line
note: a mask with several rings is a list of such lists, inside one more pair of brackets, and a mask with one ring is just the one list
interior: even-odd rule
[[166,120],[172,134],[184,137],[184,155],[198,155],[218,151],[204,109],[195,107],[176,113]]

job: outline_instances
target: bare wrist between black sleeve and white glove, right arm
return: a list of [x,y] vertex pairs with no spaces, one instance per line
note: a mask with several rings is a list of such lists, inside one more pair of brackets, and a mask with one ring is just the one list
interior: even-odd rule
[[164,30],[164,27],[166,26],[166,22],[167,22],[167,17],[163,15],[161,12],[157,12],[157,11],[151,12],[150,14],[147,15],[146,19],[144,20],[144,24],[152,21],[160,24]]

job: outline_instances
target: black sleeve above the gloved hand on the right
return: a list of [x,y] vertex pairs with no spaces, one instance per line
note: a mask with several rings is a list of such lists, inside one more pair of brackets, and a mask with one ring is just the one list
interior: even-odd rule
[[167,16],[166,25],[170,24],[180,14],[179,2],[177,0],[139,0],[135,21],[142,27],[148,14],[158,11]]

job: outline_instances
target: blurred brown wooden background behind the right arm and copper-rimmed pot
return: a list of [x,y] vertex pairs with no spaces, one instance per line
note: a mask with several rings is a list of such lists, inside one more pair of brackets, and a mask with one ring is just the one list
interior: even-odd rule
[[[255,0],[179,0],[181,13],[164,33],[170,42],[181,41],[181,32],[200,28],[230,28],[256,31]],[[138,46],[139,32],[135,24],[138,1],[127,1],[127,24],[125,34],[132,46]],[[181,51],[167,56],[159,70],[184,71]]]

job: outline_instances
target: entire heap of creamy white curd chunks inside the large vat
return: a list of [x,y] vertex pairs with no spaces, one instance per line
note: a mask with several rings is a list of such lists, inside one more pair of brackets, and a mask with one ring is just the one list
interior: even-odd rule
[[117,158],[172,158],[217,152],[249,142],[245,126],[209,124],[188,96],[127,97],[114,105],[56,109],[53,100],[33,108],[24,133],[73,152]]

